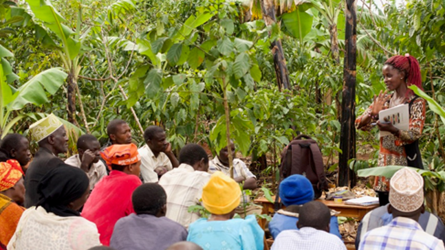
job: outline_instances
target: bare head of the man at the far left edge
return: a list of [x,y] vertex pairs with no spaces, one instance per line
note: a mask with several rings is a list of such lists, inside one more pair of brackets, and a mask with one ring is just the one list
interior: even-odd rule
[[0,161],[16,159],[19,161],[23,172],[31,160],[30,142],[20,134],[8,134],[1,140]]

